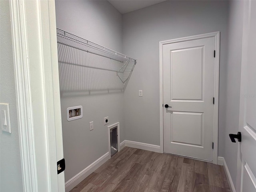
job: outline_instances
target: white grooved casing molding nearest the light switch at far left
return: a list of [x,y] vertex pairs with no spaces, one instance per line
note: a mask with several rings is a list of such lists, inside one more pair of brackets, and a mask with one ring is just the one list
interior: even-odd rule
[[10,1],[23,191],[38,191],[25,2]]

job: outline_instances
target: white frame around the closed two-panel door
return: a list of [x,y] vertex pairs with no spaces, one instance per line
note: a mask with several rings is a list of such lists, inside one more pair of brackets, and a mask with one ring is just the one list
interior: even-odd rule
[[[219,104],[219,65],[220,65],[220,32],[212,32],[189,37],[182,37],[172,40],[165,40],[159,42],[159,60],[160,60],[160,153],[164,152],[164,107],[163,107],[163,45],[177,42],[184,42],[188,40],[196,40],[202,38],[214,37],[215,40],[215,58],[214,58],[214,130],[213,130],[213,160],[214,164],[218,161],[218,104]],[[214,53],[212,53],[214,54]]]

